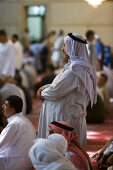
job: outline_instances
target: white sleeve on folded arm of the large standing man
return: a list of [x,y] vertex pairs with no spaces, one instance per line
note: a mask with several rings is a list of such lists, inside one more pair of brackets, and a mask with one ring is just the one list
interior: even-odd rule
[[71,72],[41,92],[46,100],[56,101],[78,87],[78,78]]

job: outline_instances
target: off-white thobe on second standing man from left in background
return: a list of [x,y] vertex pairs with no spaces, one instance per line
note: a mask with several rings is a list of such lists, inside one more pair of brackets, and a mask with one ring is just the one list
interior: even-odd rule
[[22,56],[23,56],[23,47],[19,41],[14,43],[16,48],[16,69],[20,70],[22,66]]

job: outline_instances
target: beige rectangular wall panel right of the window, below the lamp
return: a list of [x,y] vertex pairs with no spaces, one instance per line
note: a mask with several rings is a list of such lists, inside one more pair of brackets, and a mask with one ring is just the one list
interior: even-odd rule
[[113,3],[104,3],[97,9],[87,3],[52,3],[52,24],[113,24]]

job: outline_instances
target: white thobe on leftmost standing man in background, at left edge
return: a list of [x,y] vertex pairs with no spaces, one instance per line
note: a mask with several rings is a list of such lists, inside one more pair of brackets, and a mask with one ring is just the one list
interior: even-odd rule
[[14,77],[16,49],[13,44],[0,43],[0,75]]

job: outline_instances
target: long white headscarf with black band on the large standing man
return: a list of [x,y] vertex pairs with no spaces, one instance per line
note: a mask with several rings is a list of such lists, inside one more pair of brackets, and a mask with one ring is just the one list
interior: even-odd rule
[[[84,41],[81,35],[72,35]],[[92,106],[97,100],[97,79],[95,69],[91,65],[90,58],[88,56],[86,44],[73,40],[69,36],[64,37],[64,43],[66,53],[70,56],[71,60],[70,70],[82,80],[89,94]]]

